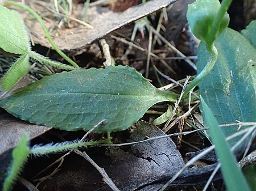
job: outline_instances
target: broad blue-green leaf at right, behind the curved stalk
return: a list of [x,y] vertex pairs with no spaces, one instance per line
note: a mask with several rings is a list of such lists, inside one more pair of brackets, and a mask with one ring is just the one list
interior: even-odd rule
[[[200,95],[214,113],[219,124],[255,122],[256,119],[256,50],[245,37],[226,29],[216,40],[218,58],[212,71],[199,83]],[[201,43],[198,73],[209,54]],[[203,115],[204,120],[205,116]],[[241,128],[243,129],[243,127]],[[238,126],[222,128],[225,136],[238,131]],[[233,145],[236,140],[232,141]]]

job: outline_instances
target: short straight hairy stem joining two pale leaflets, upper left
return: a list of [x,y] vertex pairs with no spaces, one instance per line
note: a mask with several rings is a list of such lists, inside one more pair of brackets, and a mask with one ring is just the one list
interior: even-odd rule
[[65,69],[65,70],[74,70],[75,69],[75,67],[73,67],[73,66],[68,66],[61,62],[52,61],[49,58],[46,58],[46,57],[42,56],[41,54],[38,54],[31,50],[28,51],[28,56],[30,56],[31,58],[34,58],[36,61],[38,61],[40,63],[44,63],[44,64],[47,63],[48,65],[60,67],[61,69]]

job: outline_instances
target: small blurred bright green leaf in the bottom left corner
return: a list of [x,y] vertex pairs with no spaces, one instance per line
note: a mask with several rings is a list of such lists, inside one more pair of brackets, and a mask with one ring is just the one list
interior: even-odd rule
[[8,176],[3,182],[3,191],[11,190],[15,180],[19,176],[20,171],[24,163],[30,154],[30,149],[28,148],[28,136],[27,133],[22,135],[18,145],[13,150],[13,161],[11,163]]

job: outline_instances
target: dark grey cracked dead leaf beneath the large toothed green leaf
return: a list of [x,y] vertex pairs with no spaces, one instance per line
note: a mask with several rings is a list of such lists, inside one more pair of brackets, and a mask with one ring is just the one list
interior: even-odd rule
[[[129,141],[141,141],[146,139],[146,136],[159,135],[165,134],[156,126],[141,121],[136,124]],[[184,165],[179,151],[170,138],[131,146],[110,147],[107,151],[100,147],[86,152],[94,162],[105,169],[120,190],[136,190],[146,185],[151,177],[163,173],[175,173]],[[39,186],[39,190],[42,191],[55,188],[74,191],[111,190],[108,185],[102,184],[102,176],[91,164],[74,154],[65,158],[59,172]],[[159,185],[155,184],[147,188],[148,190],[159,188]]]

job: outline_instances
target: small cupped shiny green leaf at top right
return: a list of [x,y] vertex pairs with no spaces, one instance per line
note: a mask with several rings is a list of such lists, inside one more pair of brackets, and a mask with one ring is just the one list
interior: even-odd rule
[[[220,9],[220,2],[218,0],[197,0],[188,5],[187,19],[189,27],[193,35],[197,39],[209,43],[207,41],[210,29],[213,25],[213,20]],[[218,28],[215,38],[228,26],[229,15],[226,12],[220,27]]]

